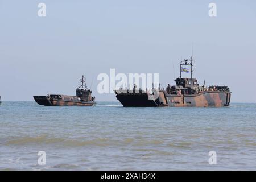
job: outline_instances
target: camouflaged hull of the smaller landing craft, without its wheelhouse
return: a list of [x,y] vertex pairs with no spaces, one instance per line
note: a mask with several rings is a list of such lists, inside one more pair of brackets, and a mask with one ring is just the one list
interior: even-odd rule
[[96,102],[82,102],[79,97],[76,96],[65,96],[65,95],[54,95],[60,96],[60,98],[51,97],[48,98],[47,96],[33,96],[35,101],[39,105],[44,106],[93,106]]

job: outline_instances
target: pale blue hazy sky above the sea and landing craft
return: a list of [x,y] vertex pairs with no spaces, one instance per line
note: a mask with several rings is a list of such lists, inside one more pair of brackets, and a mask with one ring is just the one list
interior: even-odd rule
[[[46,17],[38,16],[41,2]],[[111,68],[159,73],[161,85],[174,85],[193,45],[200,84],[229,86],[231,102],[256,102],[253,0],[0,0],[0,23],[1,100],[75,95],[85,75],[96,101],[117,101],[97,92],[98,74]]]

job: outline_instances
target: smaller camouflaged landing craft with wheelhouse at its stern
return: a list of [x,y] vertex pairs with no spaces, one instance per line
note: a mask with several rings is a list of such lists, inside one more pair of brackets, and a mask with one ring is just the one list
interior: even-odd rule
[[76,96],[65,96],[51,94],[47,96],[33,96],[39,105],[44,106],[93,106],[96,104],[95,97],[91,96],[92,90],[88,89],[84,75],[82,75],[79,88],[76,89]]

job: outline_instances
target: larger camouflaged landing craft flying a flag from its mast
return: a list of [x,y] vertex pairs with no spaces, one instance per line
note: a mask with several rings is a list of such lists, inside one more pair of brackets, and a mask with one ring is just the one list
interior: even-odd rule
[[[181,72],[189,72],[184,66],[191,66],[191,77],[181,77]],[[231,92],[228,86],[205,86],[197,84],[192,77],[193,58],[181,60],[180,77],[176,78],[176,85],[169,85],[166,89],[154,88],[148,90],[131,89],[114,90],[117,100],[125,107],[225,107],[229,106]]]

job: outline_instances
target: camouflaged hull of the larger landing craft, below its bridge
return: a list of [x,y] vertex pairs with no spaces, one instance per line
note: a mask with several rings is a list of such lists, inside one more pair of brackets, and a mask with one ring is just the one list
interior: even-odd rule
[[231,96],[231,92],[220,91],[206,91],[193,95],[172,95],[159,91],[158,96],[154,98],[148,93],[114,91],[118,101],[125,107],[225,107],[229,106]]

